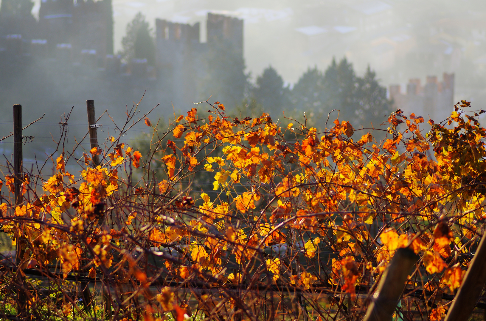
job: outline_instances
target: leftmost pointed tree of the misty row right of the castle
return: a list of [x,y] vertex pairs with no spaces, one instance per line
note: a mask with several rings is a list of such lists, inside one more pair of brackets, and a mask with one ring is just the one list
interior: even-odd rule
[[272,66],[263,70],[251,93],[265,112],[276,114],[290,108],[289,88],[284,87],[282,77]]

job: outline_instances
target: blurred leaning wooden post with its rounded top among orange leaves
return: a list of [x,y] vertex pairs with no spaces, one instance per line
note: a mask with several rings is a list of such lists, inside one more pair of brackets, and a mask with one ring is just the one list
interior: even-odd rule
[[[393,312],[405,288],[408,273],[416,264],[418,256],[411,249],[400,248],[382,275],[375,291],[377,295],[368,306],[363,321],[391,321]],[[375,296],[374,295],[374,296]]]

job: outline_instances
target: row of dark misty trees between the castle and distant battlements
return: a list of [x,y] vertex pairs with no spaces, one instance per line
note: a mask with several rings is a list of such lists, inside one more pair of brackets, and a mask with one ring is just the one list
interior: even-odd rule
[[380,85],[376,73],[368,66],[363,77],[358,77],[346,58],[339,63],[333,59],[324,72],[309,68],[292,89],[284,86],[282,77],[269,66],[249,87],[248,94],[248,106],[256,104],[265,112],[285,111],[289,116],[309,112],[317,116],[314,121],[322,122],[336,110],[334,118],[339,111],[339,118],[349,120],[355,127],[369,128],[370,123],[376,127],[391,112],[386,88]]

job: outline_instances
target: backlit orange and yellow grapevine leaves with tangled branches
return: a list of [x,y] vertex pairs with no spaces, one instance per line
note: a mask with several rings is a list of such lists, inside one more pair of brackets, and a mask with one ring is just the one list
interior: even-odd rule
[[[407,307],[440,320],[448,307],[437,304],[460,286],[485,218],[486,132],[467,107],[428,125],[398,110],[377,142],[345,120],[318,130],[266,113],[232,119],[204,102],[165,132],[144,118],[154,130],[148,154],[121,142],[124,132],[83,159],[62,150],[52,177],[26,174],[23,203],[0,206],[20,251],[18,270],[3,263],[0,293],[18,302],[20,289],[26,313],[49,307],[59,318],[93,313],[86,282],[96,282],[113,320],[170,311],[183,320],[196,309],[218,320],[350,320],[364,315],[395,251],[409,247],[420,259]],[[13,176],[4,181],[13,196]],[[46,296],[9,282],[16,271],[76,287]]]

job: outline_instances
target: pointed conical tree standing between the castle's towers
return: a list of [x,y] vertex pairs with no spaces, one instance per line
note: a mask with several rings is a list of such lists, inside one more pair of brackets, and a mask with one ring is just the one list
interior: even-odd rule
[[121,40],[121,56],[125,61],[147,59],[148,64],[155,65],[155,40],[151,31],[141,12],[127,24],[126,35]]

